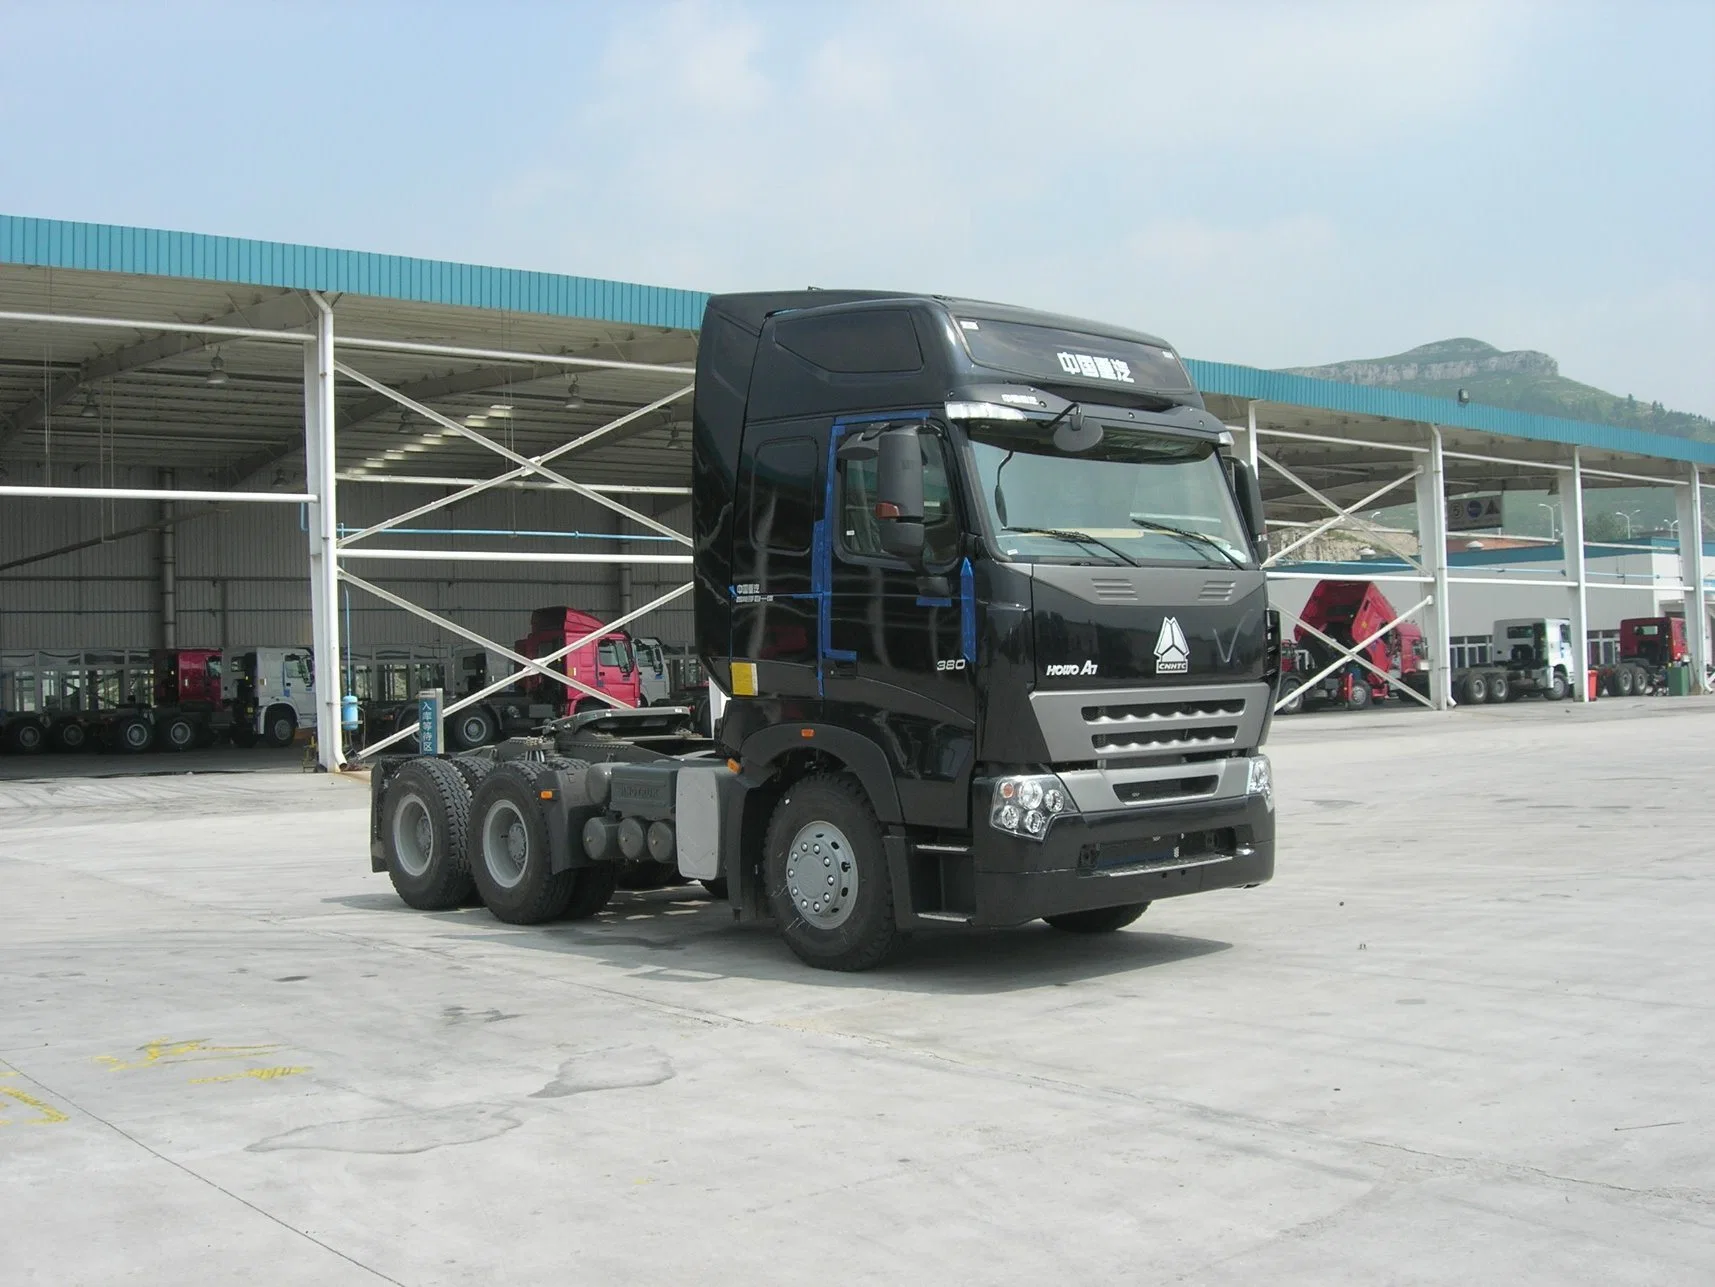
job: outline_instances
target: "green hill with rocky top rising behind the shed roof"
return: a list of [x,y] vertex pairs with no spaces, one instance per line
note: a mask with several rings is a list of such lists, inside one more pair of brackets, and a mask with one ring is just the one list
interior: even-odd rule
[[1507,353],[1482,340],[1437,340],[1394,357],[1288,371],[1295,376],[1382,384],[1437,398],[1456,398],[1465,390],[1471,402],[1489,407],[1715,441],[1715,420],[1706,415],[1670,412],[1658,402],[1638,402],[1631,395],[1580,384],[1562,376],[1561,364],[1547,353],[1528,348]]

